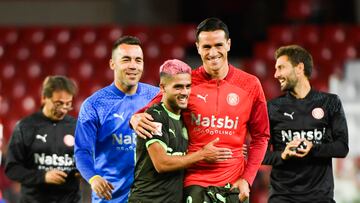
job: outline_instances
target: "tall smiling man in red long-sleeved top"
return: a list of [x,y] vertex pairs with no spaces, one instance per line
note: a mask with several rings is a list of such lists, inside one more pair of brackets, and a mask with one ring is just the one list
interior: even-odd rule
[[[189,202],[202,203],[212,198],[209,193],[214,190],[245,201],[266,152],[270,135],[264,92],[255,76],[229,64],[230,46],[228,27],[220,19],[208,18],[198,25],[196,47],[203,64],[192,71],[189,104],[182,111],[189,131],[188,150],[195,152],[218,137],[216,146],[229,148],[233,154],[226,161],[199,161],[186,170],[184,196]],[[153,102],[160,100],[161,95]],[[139,135],[150,137],[148,131],[155,129],[151,119],[148,114],[137,114],[131,124]],[[246,160],[242,149],[248,133],[251,143]],[[233,194],[234,189],[239,194]]]

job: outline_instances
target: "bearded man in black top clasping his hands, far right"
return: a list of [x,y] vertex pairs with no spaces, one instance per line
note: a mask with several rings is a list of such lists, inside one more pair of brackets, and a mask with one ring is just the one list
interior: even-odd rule
[[280,47],[275,59],[274,77],[286,93],[268,102],[269,203],[335,202],[332,158],[349,151],[341,101],[311,88],[313,61],[302,47]]

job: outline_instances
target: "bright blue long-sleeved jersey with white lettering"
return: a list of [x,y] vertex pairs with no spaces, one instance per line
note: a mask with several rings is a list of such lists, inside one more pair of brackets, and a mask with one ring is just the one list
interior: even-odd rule
[[[157,87],[139,83],[135,94],[126,95],[113,83],[81,106],[75,130],[76,166],[87,181],[100,175],[114,185],[110,202],[126,202],[133,183],[136,134],[130,118],[158,92]],[[92,200],[105,201],[95,193]]]

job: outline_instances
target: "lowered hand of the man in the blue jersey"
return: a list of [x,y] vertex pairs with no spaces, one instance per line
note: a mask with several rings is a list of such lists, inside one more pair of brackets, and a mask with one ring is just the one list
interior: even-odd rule
[[114,190],[114,186],[111,183],[107,182],[101,176],[96,176],[91,181],[91,189],[96,193],[99,198],[105,198],[106,200],[110,200],[111,192],[112,190]]

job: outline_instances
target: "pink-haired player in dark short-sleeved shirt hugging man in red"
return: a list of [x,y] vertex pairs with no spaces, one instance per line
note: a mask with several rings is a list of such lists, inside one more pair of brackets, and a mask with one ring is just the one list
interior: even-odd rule
[[135,178],[129,203],[180,203],[184,168],[201,160],[231,157],[230,150],[213,146],[218,139],[186,154],[188,134],[180,112],[187,107],[190,86],[191,68],[184,62],[168,60],[160,67],[162,102],[146,111],[158,128],[152,132],[152,138],[137,139]]

